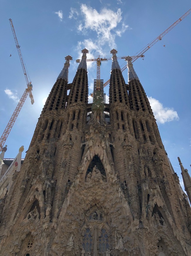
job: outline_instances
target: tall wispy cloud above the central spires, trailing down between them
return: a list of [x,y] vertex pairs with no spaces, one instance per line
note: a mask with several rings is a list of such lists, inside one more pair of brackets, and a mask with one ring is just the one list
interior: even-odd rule
[[[104,49],[108,51],[108,47],[111,49],[116,48],[116,36],[121,36],[129,28],[125,22],[122,22],[122,11],[120,8],[116,12],[106,8],[98,12],[91,6],[81,4],[80,11],[78,13],[75,9],[71,8],[69,18],[76,19],[74,14],[77,14],[80,17],[80,22],[77,25],[78,32],[84,36],[89,36],[89,33],[91,33],[92,36],[78,42],[77,51],[79,58],[81,58],[81,49],[83,48],[87,48],[89,51],[87,57],[105,55]],[[88,67],[92,65],[92,62],[88,63]]]

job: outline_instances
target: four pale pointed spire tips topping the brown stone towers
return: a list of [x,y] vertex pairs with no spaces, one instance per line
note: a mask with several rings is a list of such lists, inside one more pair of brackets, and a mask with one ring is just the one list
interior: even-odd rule
[[[81,52],[83,53],[83,55],[82,55],[82,58],[81,58],[81,61],[79,63],[79,66],[78,66],[77,70],[85,69],[87,71],[87,63],[86,63],[87,56],[86,56],[86,54],[89,53],[89,51],[86,48],[84,48]],[[112,54],[111,71],[113,69],[119,69],[121,71],[121,68],[120,68],[120,65],[117,61],[117,56],[116,56],[117,50],[112,49],[110,51],[110,53]],[[68,55],[68,56],[65,57],[65,60],[66,60],[66,62],[64,63],[64,67],[63,67],[62,71],[60,72],[57,80],[62,78],[62,79],[66,80],[68,82],[68,68],[70,67],[70,61],[72,60],[72,57],[70,55]],[[132,57],[127,56],[125,58],[125,60],[127,61],[127,68],[128,68],[128,81],[130,82],[132,79],[139,80],[136,72],[134,71],[133,64],[131,62]]]

